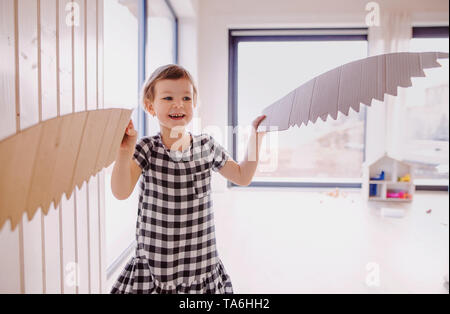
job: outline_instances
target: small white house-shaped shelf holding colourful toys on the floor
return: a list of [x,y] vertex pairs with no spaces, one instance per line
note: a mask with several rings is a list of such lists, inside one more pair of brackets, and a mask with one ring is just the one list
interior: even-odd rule
[[363,165],[362,193],[369,201],[411,202],[414,197],[413,168],[384,155]]

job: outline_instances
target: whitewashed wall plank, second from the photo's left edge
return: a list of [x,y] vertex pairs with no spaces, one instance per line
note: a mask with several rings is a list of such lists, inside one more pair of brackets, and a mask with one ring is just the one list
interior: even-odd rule
[[[39,122],[38,97],[38,2],[18,0],[18,62],[20,129]],[[41,211],[31,221],[22,218],[25,293],[43,293]]]

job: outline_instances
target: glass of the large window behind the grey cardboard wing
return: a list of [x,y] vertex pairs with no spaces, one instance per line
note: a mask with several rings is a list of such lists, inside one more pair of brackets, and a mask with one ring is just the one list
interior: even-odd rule
[[[262,110],[313,77],[367,57],[367,41],[240,42],[238,45],[238,125],[247,126]],[[254,181],[359,182],[364,156],[364,106],[334,121],[269,132],[262,144]],[[249,129],[247,128],[247,131]],[[238,131],[239,145],[247,143]],[[246,146],[238,147],[242,160]],[[267,150],[267,151],[266,151]],[[276,152],[275,152],[276,151]],[[270,155],[270,156],[268,156]]]

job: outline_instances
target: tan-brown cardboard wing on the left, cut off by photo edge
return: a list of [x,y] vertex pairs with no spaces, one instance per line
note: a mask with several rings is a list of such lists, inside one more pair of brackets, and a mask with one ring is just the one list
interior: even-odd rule
[[84,111],[43,121],[0,142],[0,229],[48,213],[114,160],[132,110]]

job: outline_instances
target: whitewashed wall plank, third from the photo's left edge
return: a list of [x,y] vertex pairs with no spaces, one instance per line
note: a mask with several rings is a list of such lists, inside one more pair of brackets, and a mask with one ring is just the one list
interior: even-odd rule
[[[57,0],[40,0],[41,20],[41,116],[42,120],[55,118],[58,114],[57,89]],[[44,209],[44,212],[46,209]],[[59,212],[50,205],[47,216],[43,217],[45,292],[61,293],[61,243]]]

